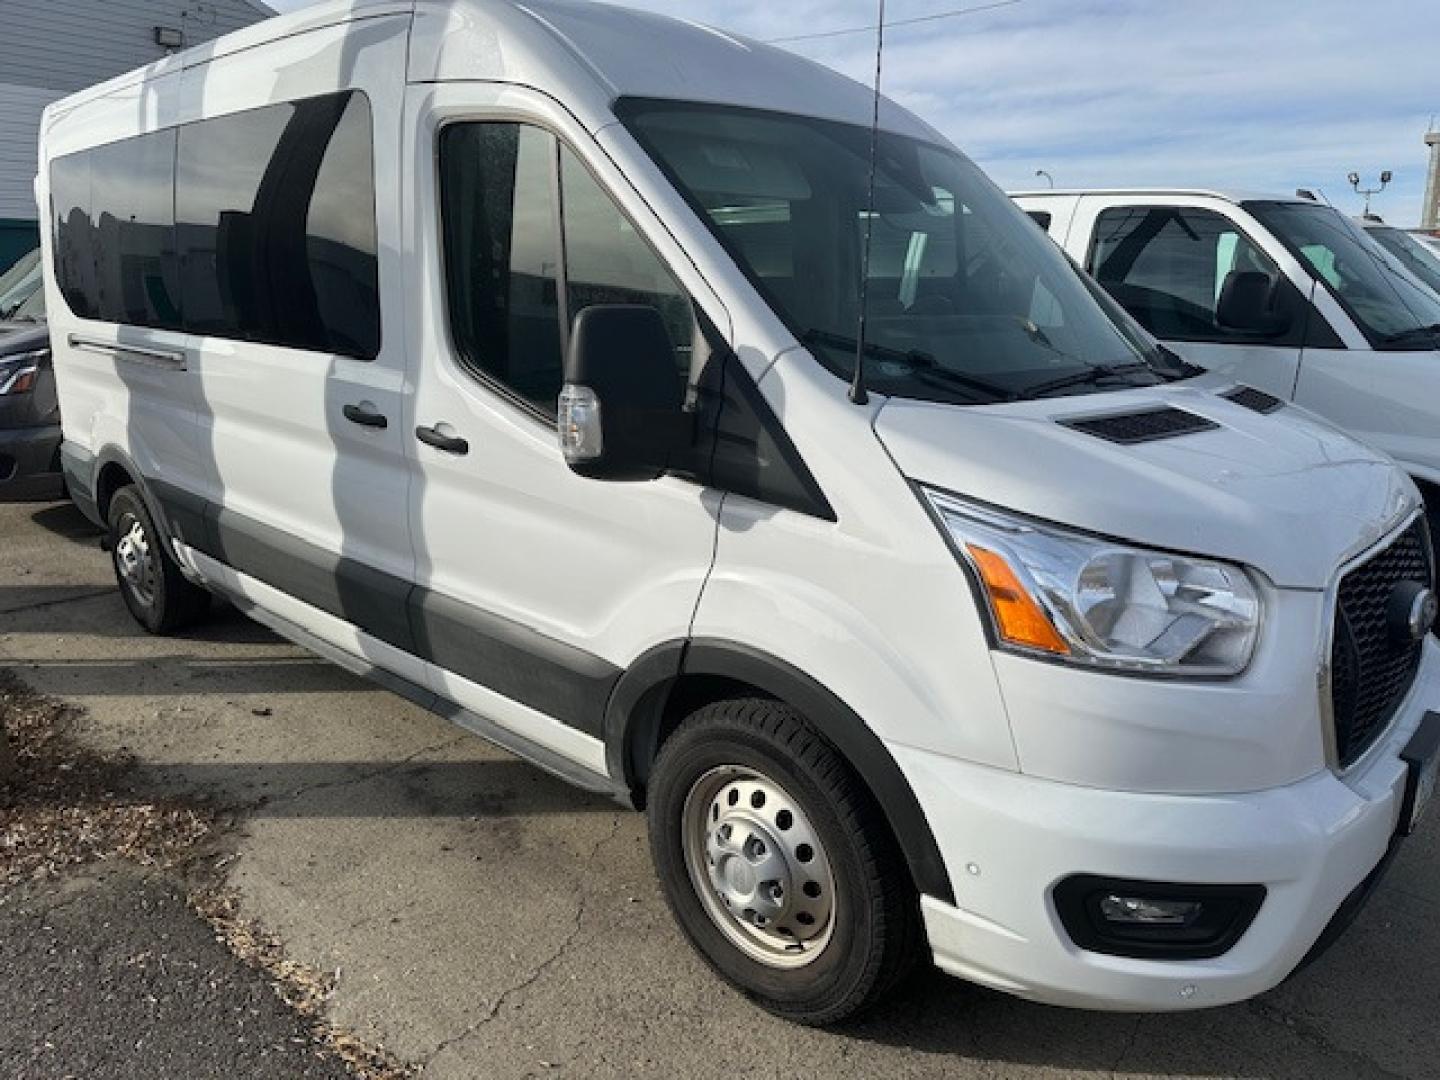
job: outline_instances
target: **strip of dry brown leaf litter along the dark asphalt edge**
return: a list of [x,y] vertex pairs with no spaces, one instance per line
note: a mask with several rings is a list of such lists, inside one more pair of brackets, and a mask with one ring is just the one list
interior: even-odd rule
[[26,883],[125,860],[173,876],[216,939],[271,986],[307,1024],[315,1047],[364,1080],[402,1080],[416,1067],[395,1061],[325,1022],[334,979],[287,959],[279,940],[239,914],[223,886],[232,855],[230,809],[202,799],[154,796],[122,753],[99,753],[75,737],[81,710],[32,693],[0,671],[0,904]]

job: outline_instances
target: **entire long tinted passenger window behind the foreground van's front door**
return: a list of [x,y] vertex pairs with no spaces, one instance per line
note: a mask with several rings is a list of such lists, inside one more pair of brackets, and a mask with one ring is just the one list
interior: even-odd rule
[[331,94],[50,163],[71,310],[373,359],[380,288],[370,104]]

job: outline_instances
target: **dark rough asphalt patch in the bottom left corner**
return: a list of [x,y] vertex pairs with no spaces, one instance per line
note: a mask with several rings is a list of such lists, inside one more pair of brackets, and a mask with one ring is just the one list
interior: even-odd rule
[[344,1080],[160,876],[117,867],[0,906],[7,1080]]

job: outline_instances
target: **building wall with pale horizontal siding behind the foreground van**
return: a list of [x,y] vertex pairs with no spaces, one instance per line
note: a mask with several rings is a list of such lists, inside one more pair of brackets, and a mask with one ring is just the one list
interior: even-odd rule
[[40,109],[164,56],[156,27],[199,45],[271,14],[258,0],[3,0],[0,3],[0,271],[37,242]]

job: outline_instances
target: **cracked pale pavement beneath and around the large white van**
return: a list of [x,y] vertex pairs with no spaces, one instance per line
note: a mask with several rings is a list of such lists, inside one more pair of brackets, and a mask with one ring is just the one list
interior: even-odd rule
[[426,1079],[1440,1077],[1440,821],[1326,958],[1259,1001],[1074,1012],[927,972],[814,1031],[691,953],[639,815],[233,611],[147,636],[66,504],[0,505],[0,667],[82,706],[81,737],[128,749],[147,782],[242,808],[243,913],[334,975],[334,1024]]

